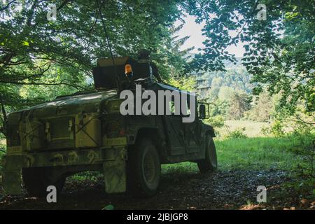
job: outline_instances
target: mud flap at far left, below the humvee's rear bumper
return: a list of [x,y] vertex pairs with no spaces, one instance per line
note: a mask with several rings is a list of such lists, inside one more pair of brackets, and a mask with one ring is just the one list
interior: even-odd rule
[[6,194],[20,195],[21,183],[21,169],[2,172],[2,187]]

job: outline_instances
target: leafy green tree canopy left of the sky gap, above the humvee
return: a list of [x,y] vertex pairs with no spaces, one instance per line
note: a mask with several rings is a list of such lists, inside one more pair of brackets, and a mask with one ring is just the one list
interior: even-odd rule
[[[172,43],[170,27],[181,15],[176,1],[97,1],[113,54],[134,56],[149,48],[162,76],[167,76],[163,66],[175,56],[165,43]],[[85,79],[96,59],[110,56],[97,1],[1,1],[0,88],[6,105],[40,97],[29,96],[25,85],[52,85],[59,93],[65,92],[64,87],[89,89]],[[54,21],[47,19],[50,3],[57,6]],[[31,88],[36,92],[36,87]],[[28,96],[21,97],[21,91]]]

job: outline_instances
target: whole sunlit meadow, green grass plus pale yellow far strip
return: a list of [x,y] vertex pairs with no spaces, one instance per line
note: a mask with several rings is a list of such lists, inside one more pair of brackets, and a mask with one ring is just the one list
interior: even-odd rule
[[[218,137],[214,139],[218,156],[218,169],[236,170],[293,170],[302,163],[302,158],[293,153],[305,144],[303,139],[294,137],[265,137],[262,128],[269,123],[257,123],[248,120],[225,120],[224,127],[217,128]],[[247,138],[230,139],[228,135],[235,130],[245,128]],[[176,165],[163,165],[163,172],[198,172],[193,162]]]

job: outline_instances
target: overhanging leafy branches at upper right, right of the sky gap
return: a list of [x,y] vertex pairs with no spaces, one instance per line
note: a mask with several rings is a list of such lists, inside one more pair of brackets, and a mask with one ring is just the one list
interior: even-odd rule
[[254,93],[267,88],[281,92],[281,106],[294,111],[304,102],[314,111],[314,1],[265,0],[266,20],[258,20],[255,0],[186,1],[186,10],[204,22],[205,48],[195,57],[203,69],[224,70],[224,60],[236,62],[226,49],[246,43],[241,62],[253,75]]

